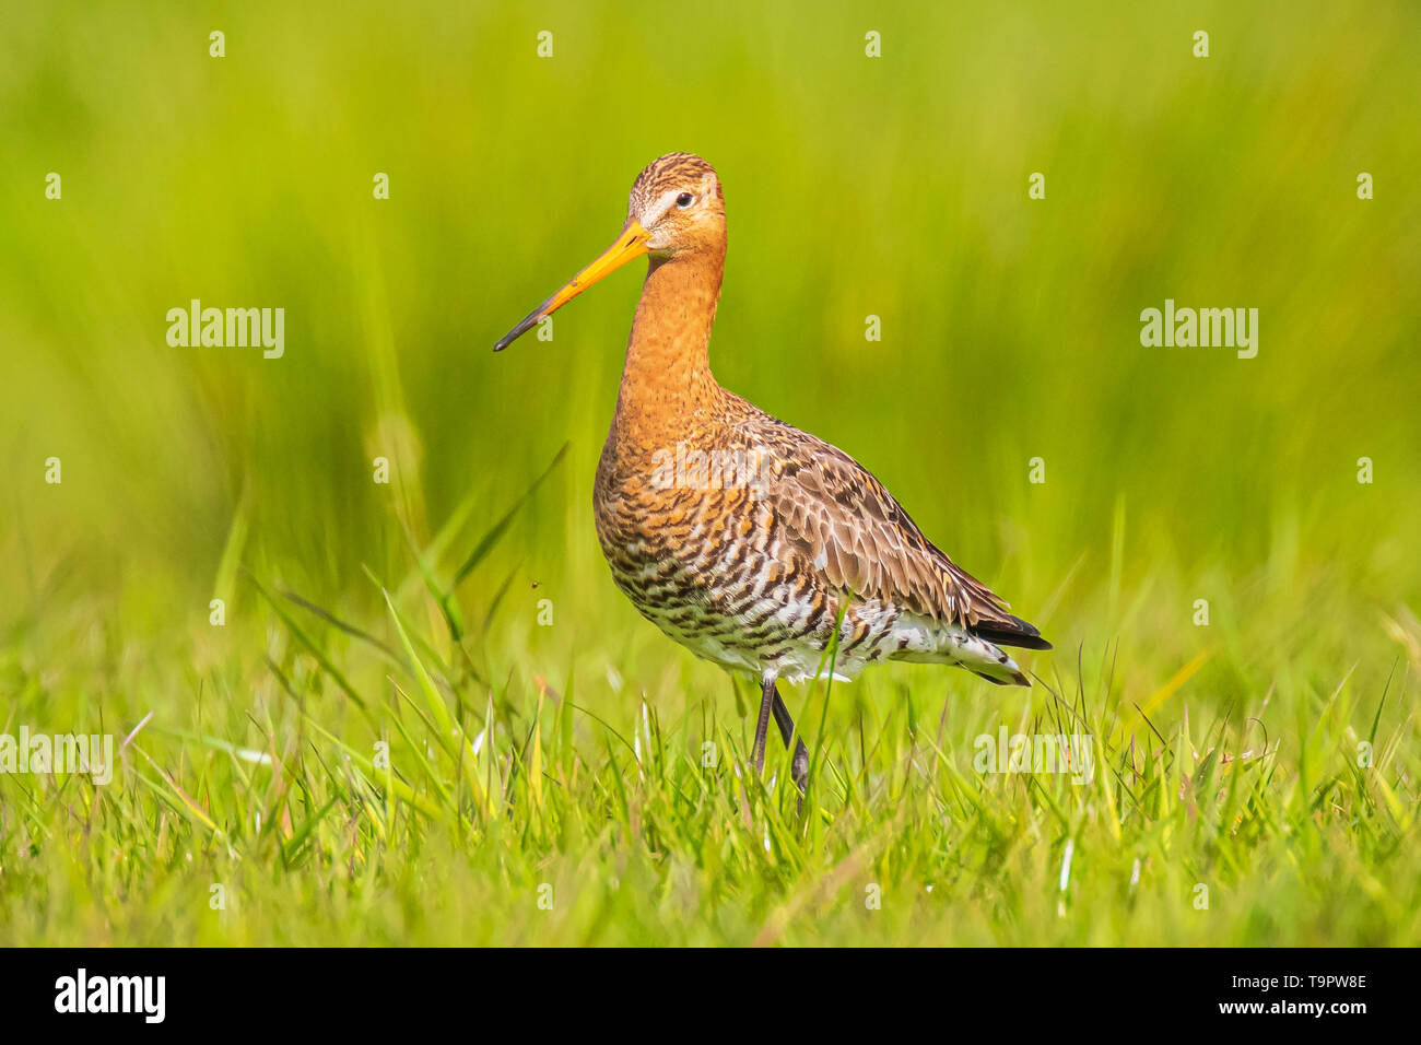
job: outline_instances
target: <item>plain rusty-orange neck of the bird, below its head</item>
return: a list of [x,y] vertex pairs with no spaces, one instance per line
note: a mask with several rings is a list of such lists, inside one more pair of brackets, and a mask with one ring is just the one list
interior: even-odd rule
[[719,402],[723,392],[710,374],[709,344],[723,266],[723,247],[652,262],[612,421],[612,436],[624,445],[652,449],[668,439],[675,445]]

